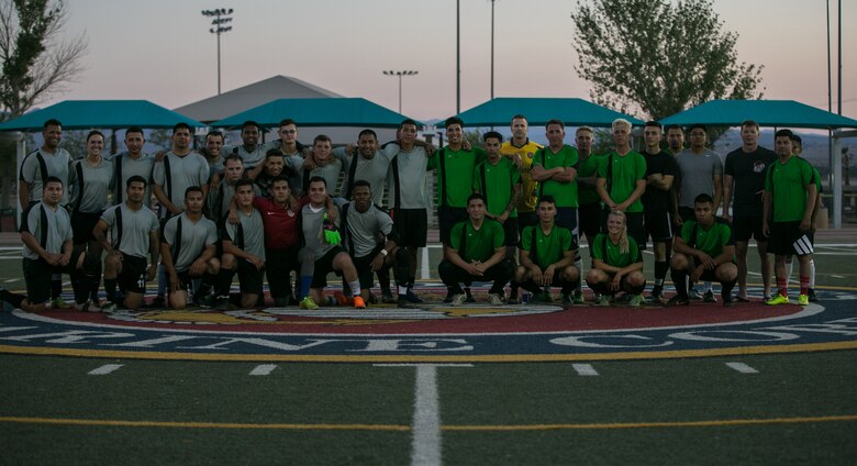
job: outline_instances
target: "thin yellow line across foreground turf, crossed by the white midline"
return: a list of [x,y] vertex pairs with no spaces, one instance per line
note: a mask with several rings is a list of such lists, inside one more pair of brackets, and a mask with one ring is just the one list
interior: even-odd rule
[[[712,421],[675,422],[619,422],[588,424],[517,424],[517,425],[442,425],[449,432],[513,432],[513,431],[557,431],[557,430],[631,430],[663,428],[723,428],[743,425],[808,424],[821,422],[853,422],[857,414],[821,415],[806,418],[773,419],[723,419]],[[382,431],[409,432],[410,425],[401,424],[251,424],[229,422],[164,422],[164,421],[120,421],[105,419],[57,419],[57,418],[13,418],[0,417],[0,423],[85,425],[118,428],[159,428],[159,429],[223,429],[223,430],[283,430],[283,431]]]

